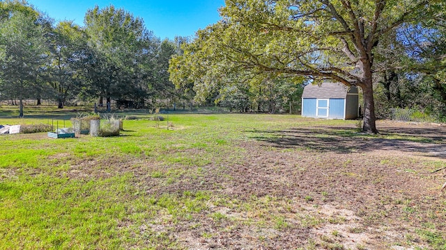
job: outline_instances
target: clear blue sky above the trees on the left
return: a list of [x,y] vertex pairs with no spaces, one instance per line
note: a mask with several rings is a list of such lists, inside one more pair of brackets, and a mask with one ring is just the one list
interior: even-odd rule
[[175,35],[194,35],[199,28],[214,24],[220,19],[218,8],[224,0],[28,0],[38,10],[46,12],[49,17],[61,21],[74,20],[84,25],[86,10],[98,5],[100,8],[114,5],[132,12],[135,17],[144,19],[149,31],[164,39],[174,39]]

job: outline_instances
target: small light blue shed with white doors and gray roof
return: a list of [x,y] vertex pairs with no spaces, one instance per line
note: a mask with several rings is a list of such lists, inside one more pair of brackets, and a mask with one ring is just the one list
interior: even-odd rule
[[309,84],[302,93],[302,117],[355,119],[359,96],[355,86],[342,83]]

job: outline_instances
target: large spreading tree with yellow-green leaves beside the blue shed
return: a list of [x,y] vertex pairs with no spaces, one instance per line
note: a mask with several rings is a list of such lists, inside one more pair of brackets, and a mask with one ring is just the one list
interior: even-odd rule
[[178,85],[192,81],[206,90],[219,84],[216,78],[224,69],[245,76],[305,76],[312,83],[357,85],[364,94],[363,131],[378,133],[375,48],[402,24],[433,19],[437,3],[227,0],[220,10],[222,20],[199,31],[185,47],[185,56],[172,60],[171,79]]

